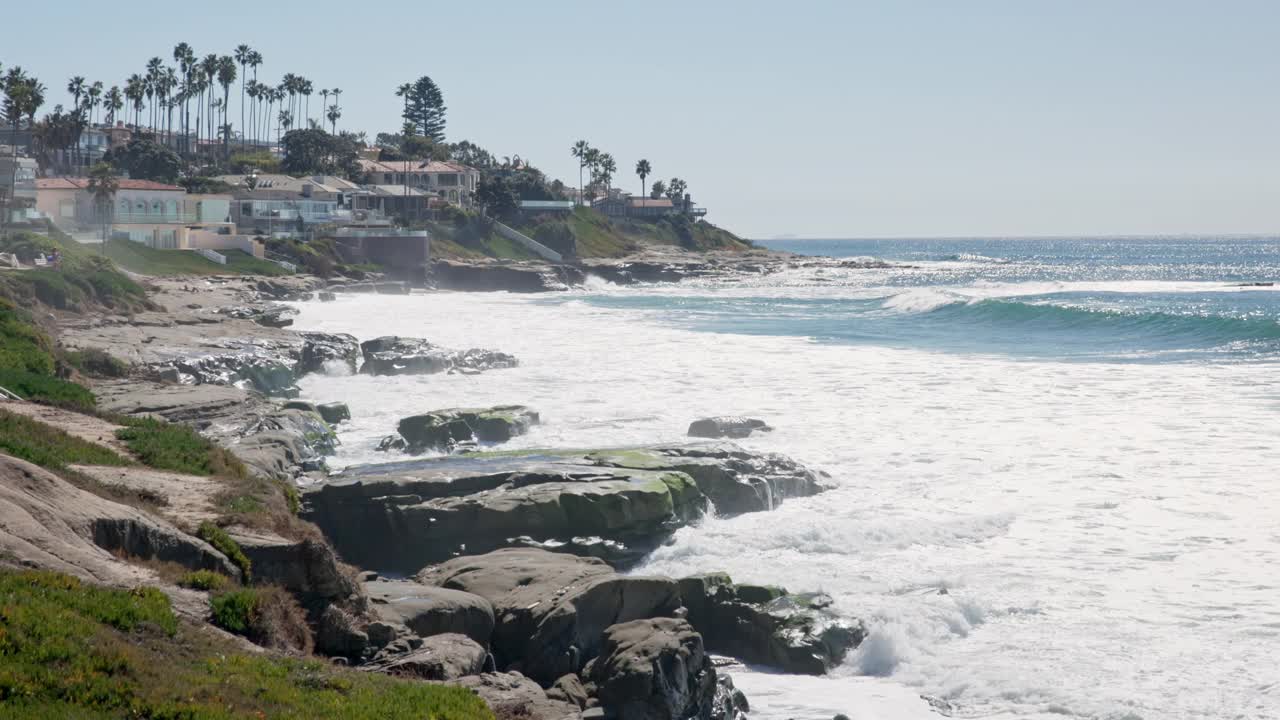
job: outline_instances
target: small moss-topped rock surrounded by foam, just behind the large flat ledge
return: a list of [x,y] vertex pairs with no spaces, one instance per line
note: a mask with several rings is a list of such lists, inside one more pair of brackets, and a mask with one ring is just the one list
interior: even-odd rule
[[538,424],[538,413],[524,405],[433,410],[399,421],[397,430],[410,452],[448,451],[463,442],[507,442]]

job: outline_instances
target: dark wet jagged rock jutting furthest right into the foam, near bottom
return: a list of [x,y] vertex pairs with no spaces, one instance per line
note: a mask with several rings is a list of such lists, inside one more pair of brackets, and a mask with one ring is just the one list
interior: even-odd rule
[[826,674],[867,635],[860,623],[832,612],[822,593],[735,585],[726,574],[709,574],[681,579],[680,594],[710,652],[785,673]]

